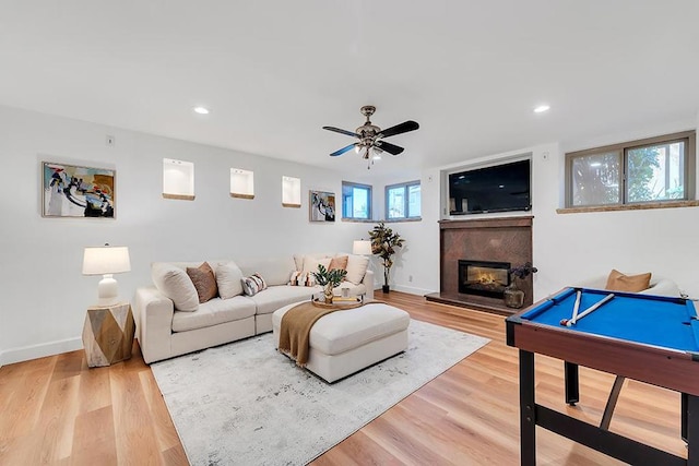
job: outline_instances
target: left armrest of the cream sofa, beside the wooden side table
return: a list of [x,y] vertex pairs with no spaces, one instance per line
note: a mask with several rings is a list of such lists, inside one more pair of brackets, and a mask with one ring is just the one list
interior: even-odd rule
[[135,326],[146,363],[169,358],[175,304],[156,288],[135,291]]

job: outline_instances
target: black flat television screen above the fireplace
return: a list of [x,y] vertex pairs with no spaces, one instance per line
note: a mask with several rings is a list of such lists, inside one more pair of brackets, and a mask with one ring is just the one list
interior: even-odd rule
[[530,160],[449,175],[449,214],[529,211]]

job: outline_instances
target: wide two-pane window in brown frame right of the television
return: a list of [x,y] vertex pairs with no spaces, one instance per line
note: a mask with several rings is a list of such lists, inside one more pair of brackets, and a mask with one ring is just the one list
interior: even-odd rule
[[566,154],[566,206],[692,199],[695,140],[688,131]]

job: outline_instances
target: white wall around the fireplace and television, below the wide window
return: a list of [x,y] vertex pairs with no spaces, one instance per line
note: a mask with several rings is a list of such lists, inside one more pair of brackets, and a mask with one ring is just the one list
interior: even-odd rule
[[[424,170],[422,175],[423,220],[393,227],[407,239],[392,276],[393,288],[416,294],[439,290],[440,170],[465,165],[496,163],[524,153],[532,154],[532,212],[473,215],[469,218],[533,215],[534,299],[592,276],[606,275],[614,267],[623,272],[652,272],[672,277],[691,297],[699,297],[697,263],[699,207],[657,208],[581,214],[557,214],[564,205],[565,152],[630,141],[699,127],[699,119],[662,128],[597,136],[577,142],[525,147],[450,167]],[[699,177],[699,167],[697,170]],[[431,177],[431,178],[430,178]],[[429,181],[429,180],[433,181]],[[388,180],[398,182],[400,180]],[[459,217],[464,218],[464,217]],[[413,276],[413,283],[408,282]],[[415,284],[419,284],[418,287]]]

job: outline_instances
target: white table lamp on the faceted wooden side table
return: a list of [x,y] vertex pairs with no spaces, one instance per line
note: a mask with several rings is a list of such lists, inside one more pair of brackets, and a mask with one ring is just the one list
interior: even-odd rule
[[87,247],[83,255],[83,275],[103,275],[97,285],[97,306],[107,307],[119,301],[119,284],[112,274],[131,270],[129,248],[126,246]]

